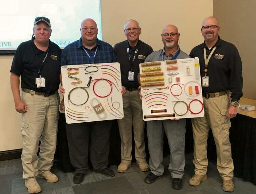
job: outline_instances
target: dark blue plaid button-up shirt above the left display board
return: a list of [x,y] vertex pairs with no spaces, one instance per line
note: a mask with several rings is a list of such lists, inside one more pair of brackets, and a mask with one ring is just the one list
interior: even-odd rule
[[[95,56],[95,64],[97,63],[113,63],[116,62],[116,56],[113,47],[104,41],[97,38],[97,45],[89,50],[86,49],[87,53],[93,57],[98,46],[98,50]],[[63,65],[82,65],[90,64],[91,61],[85,53],[82,44],[82,38],[70,43],[65,47],[61,53],[61,66]]]

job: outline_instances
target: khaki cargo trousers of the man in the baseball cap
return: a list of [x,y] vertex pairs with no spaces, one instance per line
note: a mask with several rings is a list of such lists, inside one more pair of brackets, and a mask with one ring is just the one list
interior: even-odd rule
[[[22,92],[27,112],[22,114],[23,178],[36,177],[39,171],[50,170],[56,148],[59,118],[59,94],[45,97]],[[41,140],[40,156],[38,144]]]

